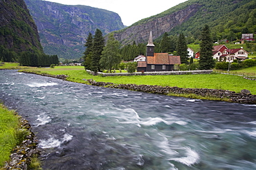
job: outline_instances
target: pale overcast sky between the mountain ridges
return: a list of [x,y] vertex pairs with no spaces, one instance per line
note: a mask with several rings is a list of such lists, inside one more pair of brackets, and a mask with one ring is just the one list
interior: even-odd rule
[[46,0],[66,5],[84,5],[110,10],[119,14],[124,25],[159,14],[188,0]]

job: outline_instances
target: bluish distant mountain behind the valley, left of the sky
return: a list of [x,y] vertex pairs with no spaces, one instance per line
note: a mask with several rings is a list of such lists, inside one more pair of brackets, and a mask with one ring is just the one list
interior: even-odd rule
[[84,52],[89,32],[103,34],[125,28],[115,12],[89,6],[67,6],[42,0],[25,0],[46,54],[77,59]]

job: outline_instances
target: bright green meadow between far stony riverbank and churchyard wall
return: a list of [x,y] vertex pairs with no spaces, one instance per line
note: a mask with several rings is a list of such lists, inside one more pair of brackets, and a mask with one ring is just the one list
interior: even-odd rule
[[256,94],[256,81],[246,80],[241,76],[226,74],[187,74],[167,76],[92,76],[85,72],[82,66],[57,66],[55,68],[33,68],[30,72],[45,74],[66,74],[68,81],[86,83],[83,79],[93,78],[95,81],[116,84],[161,85],[181,88],[228,89],[240,92],[248,89]]

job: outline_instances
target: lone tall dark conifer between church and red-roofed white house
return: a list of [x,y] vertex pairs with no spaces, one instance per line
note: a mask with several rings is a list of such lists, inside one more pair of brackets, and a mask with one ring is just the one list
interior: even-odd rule
[[212,58],[212,50],[210,28],[208,25],[205,25],[201,32],[199,70],[210,70],[214,67],[215,63]]

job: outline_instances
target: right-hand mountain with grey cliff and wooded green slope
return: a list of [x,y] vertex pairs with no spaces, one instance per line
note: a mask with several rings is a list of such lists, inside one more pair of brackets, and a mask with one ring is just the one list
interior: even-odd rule
[[241,39],[241,33],[256,32],[255,8],[255,0],[189,0],[118,30],[114,36],[123,45],[147,42],[151,30],[153,39],[165,32],[170,35],[183,32],[199,39],[203,25],[208,24],[214,39]]

